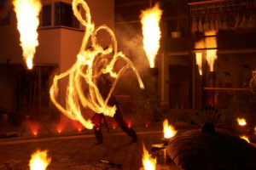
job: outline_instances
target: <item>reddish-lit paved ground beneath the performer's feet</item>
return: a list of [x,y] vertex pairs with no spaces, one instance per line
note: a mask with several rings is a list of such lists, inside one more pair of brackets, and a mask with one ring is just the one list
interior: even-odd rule
[[[104,144],[96,145],[93,134],[80,134],[66,137],[41,139],[1,139],[0,169],[6,169],[4,163],[29,161],[37,150],[49,150],[52,163],[94,163],[99,159],[121,164],[122,169],[137,170],[142,167],[143,143],[151,152],[151,144],[160,144],[161,131],[137,131],[137,143],[131,143],[130,137],[122,132],[104,133]],[[180,169],[171,163],[171,169]]]

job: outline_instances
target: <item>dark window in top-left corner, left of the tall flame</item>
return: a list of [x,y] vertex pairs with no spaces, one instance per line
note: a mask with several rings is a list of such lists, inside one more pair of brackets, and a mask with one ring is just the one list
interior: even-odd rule
[[9,24],[10,1],[0,0],[0,24]]

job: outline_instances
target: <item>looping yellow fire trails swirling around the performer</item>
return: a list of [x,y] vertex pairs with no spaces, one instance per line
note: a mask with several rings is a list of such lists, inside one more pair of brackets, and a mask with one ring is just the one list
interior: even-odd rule
[[[81,4],[85,10],[86,20],[83,19],[78,10],[79,4]],[[96,113],[103,113],[106,116],[113,116],[116,107],[115,105],[108,106],[108,99],[112,95],[113,88],[118,82],[119,77],[128,68],[131,68],[135,72],[140,88],[144,88],[144,86],[142,79],[131,60],[126,58],[125,54],[122,52],[117,51],[117,42],[113,31],[108,26],[99,26],[95,28],[94,24],[91,22],[90,8],[83,0],[73,0],[72,6],[74,15],[86,28],[86,31],[84,32],[84,39],[79,50],[79,54],[77,55],[76,62],[70,69],[54,77],[53,84],[49,89],[49,94],[52,102],[63,114],[73,120],[81,122],[84,127],[91,129],[93,125],[90,120],[85,120],[82,116],[80,105],[83,107],[89,107]],[[113,48],[110,47],[103,49],[102,46],[97,43],[96,35],[98,31],[107,31],[109,33],[109,35],[112,37]],[[91,48],[86,48],[89,39],[91,42]],[[109,56],[112,57],[110,61],[108,61]],[[117,59],[123,59],[125,61],[125,66],[122,67],[118,72],[115,72],[113,71],[113,66]],[[106,63],[106,61],[107,65],[99,68],[97,63]],[[99,89],[96,86],[96,78],[102,74],[108,73],[114,78],[114,82],[108,93],[107,99],[103,99]],[[56,96],[58,94],[58,81],[63,77],[69,77],[66,92],[66,108],[56,101]],[[84,93],[84,83],[88,85],[88,95],[85,95]]]

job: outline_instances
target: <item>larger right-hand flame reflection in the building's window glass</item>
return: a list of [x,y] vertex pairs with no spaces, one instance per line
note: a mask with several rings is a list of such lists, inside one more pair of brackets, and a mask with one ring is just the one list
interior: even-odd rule
[[[215,36],[216,31],[206,31],[205,36]],[[216,37],[206,37],[206,48],[217,48]],[[214,61],[217,59],[217,49],[207,49],[207,63],[210,71],[213,71]]]

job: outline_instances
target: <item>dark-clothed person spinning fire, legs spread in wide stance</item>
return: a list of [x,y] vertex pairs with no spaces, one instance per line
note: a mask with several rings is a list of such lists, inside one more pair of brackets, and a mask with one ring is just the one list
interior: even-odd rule
[[[101,66],[102,68],[102,66]],[[99,89],[99,92],[102,94],[103,99],[107,99],[108,93],[112,87],[112,82],[110,81],[109,74],[102,73],[99,77],[96,79],[96,85]],[[108,99],[108,105],[116,106],[116,111],[113,116],[113,119],[115,122],[118,123],[119,127],[126,133],[128,136],[131,137],[132,142],[137,142],[137,134],[136,132],[131,128],[128,127],[128,123],[124,121],[122,112],[119,109],[119,105],[113,95]],[[106,122],[105,116],[101,113],[96,113],[95,116],[91,118],[92,122],[94,123],[94,132],[96,135],[97,143],[96,144],[102,144],[103,138],[102,138],[102,125],[103,123],[106,125],[108,129],[108,124]],[[103,120],[103,122],[102,122]]]

